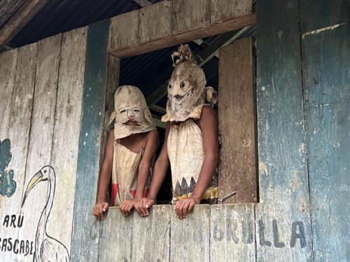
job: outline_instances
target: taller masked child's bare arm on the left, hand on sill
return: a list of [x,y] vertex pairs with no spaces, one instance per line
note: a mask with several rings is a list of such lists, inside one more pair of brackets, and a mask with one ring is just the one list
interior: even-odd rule
[[155,198],[157,197],[158,191],[162,186],[162,182],[165,179],[165,175],[167,174],[167,170],[169,168],[169,158],[167,151],[167,138],[170,130],[170,124],[167,124],[165,129],[165,139],[162,145],[162,150],[158,156],[157,161],[155,161],[155,165],[153,168],[153,177],[151,181],[150,191],[148,193],[147,198],[141,198],[139,202],[135,205],[135,209],[141,216],[148,215],[148,208],[155,203]]

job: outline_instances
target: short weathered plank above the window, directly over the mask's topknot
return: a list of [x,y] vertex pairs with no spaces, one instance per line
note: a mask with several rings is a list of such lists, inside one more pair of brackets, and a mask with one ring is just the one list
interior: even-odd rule
[[210,0],[173,0],[172,3],[173,34],[210,24]]

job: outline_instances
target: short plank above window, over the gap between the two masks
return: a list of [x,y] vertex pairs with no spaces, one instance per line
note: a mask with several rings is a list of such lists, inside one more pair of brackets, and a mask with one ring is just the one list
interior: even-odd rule
[[140,9],[139,43],[172,35],[172,1],[165,0]]

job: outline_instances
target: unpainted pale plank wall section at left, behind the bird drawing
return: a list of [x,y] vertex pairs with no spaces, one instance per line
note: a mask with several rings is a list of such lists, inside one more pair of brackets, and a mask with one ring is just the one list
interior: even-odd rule
[[[86,37],[84,27],[0,54],[0,140],[10,140],[12,154],[1,193],[8,174],[16,185],[0,198],[1,261],[32,261],[42,228],[70,250]],[[2,150],[1,165],[9,155]],[[49,180],[36,184],[22,206],[31,177],[45,166],[52,166]],[[52,209],[45,209],[48,198]],[[38,226],[41,215],[48,221]]]

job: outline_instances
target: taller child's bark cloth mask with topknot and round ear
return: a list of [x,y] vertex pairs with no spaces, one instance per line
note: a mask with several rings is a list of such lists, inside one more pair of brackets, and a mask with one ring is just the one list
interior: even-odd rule
[[162,122],[183,122],[200,119],[205,102],[214,105],[218,95],[213,87],[205,87],[207,80],[193,59],[188,45],[181,45],[172,54],[174,71],[168,85],[167,114]]

